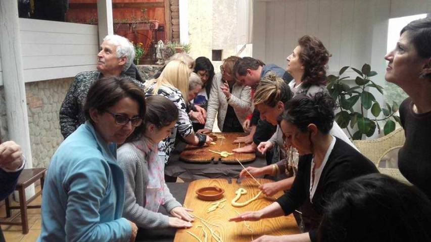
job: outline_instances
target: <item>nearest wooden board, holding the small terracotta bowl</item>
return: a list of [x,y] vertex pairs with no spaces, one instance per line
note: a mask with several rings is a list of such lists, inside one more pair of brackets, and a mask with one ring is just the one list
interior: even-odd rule
[[[268,179],[257,179],[261,184],[268,183],[271,180]],[[196,191],[203,187],[217,186],[222,188],[224,196],[220,199],[226,199],[225,206],[223,208],[217,208],[215,211],[207,213],[208,207],[216,201],[202,201],[198,199]],[[222,238],[223,242],[245,242],[257,239],[262,235],[285,235],[285,234],[298,234],[300,230],[297,226],[296,220],[293,214],[289,216],[281,216],[277,218],[261,219],[260,221],[246,221],[249,227],[253,229],[253,232],[248,230],[244,222],[229,222],[228,219],[237,216],[235,210],[239,213],[246,211],[256,211],[262,209],[272,203],[271,200],[264,198],[263,195],[256,201],[249,205],[241,208],[233,207],[230,202],[235,197],[235,191],[238,188],[244,188],[247,190],[247,194],[243,195],[238,202],[245,202],[254,197],[258,192],[258,186],[256,182],[251,178],[242,180],[241,184],[236,183],[236,179],[232,179],[232,184],[228,184],[226,179],[200,179],[190,183],[187,194],[185,196],[184,206],[193,209],[196,216],[207,220],[208,222],[217,225],[209,225],[216,231]],[[278,192],[274,198],[278,198],[282,195],[282,192]],[[218,201],[220,201],[218,200]],[[204,241],[204,232],[202,228],[197,226],[203,225],[200,219],[195,218],[193,227],[189,229],[178,229],[175,234],[174,242],[182,241],[198,241],[195,237],[187,233],[186,231],[196,234],[202,241]],[[205,226],[204,226],[205,227]],[[208,241],[215,241],[210,239],[210,231],[205,227],[208,233]]]

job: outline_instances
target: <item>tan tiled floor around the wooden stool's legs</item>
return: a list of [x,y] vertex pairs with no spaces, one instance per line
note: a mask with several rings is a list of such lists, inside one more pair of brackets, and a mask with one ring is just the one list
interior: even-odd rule
[[[40,191],[40,186],[35,187],[36,193]],[[37,197],[30,205],[39,205],[41,203],[42,197]],[[19,204],[15,201],[11,203],[11,206],[18,206]],[[19,210],[12,210],[12,215],[19,213]],[[28,227],[30,230],[27,234],[22,234],[22,227],[17,225],[1,225],[3,234],[5,235],[5,239],[7,242],[34,242],[40,234],[40,208],[37,209],[28,209]],[[5,205],[0,207],[0,218],[6,218],[6,209]],[[14,222],[20,222],[21,216],[16,217]]]

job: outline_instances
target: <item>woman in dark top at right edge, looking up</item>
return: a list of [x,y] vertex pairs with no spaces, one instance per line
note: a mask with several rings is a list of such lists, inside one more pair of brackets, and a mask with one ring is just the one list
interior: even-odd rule
[[406,141],[398,154],[401,173],[431,198],[431,18],[415,20],[385,59],[385,79],[409,97],[400,105]]

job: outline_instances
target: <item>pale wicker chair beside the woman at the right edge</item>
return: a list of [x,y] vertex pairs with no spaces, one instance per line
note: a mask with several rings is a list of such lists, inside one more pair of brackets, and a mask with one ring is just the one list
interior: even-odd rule
[[401,148],[404,145],[404,141],[404,130],[399,128],[387,136],[374,140],[355,140],[353,144],[376,165],[380,173],[392,176],[405,184],[410,184],[398,168],[383,168],[378,166],[380,160],[388,152]]

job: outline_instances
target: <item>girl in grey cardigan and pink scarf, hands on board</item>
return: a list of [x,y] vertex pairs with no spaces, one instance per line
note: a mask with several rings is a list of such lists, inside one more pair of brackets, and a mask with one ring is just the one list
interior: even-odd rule
[[[183,208],[169,192],[164,162],[157,155],[159,142],[169,136],[177,122],[178,108],[159,95],[148,97],[146,102],[141,136],[118,149],[118,164],[126,180],[123,216],[141,228],[191,227],[191,210]],[[174,217],[158,213],[160,205]]]

